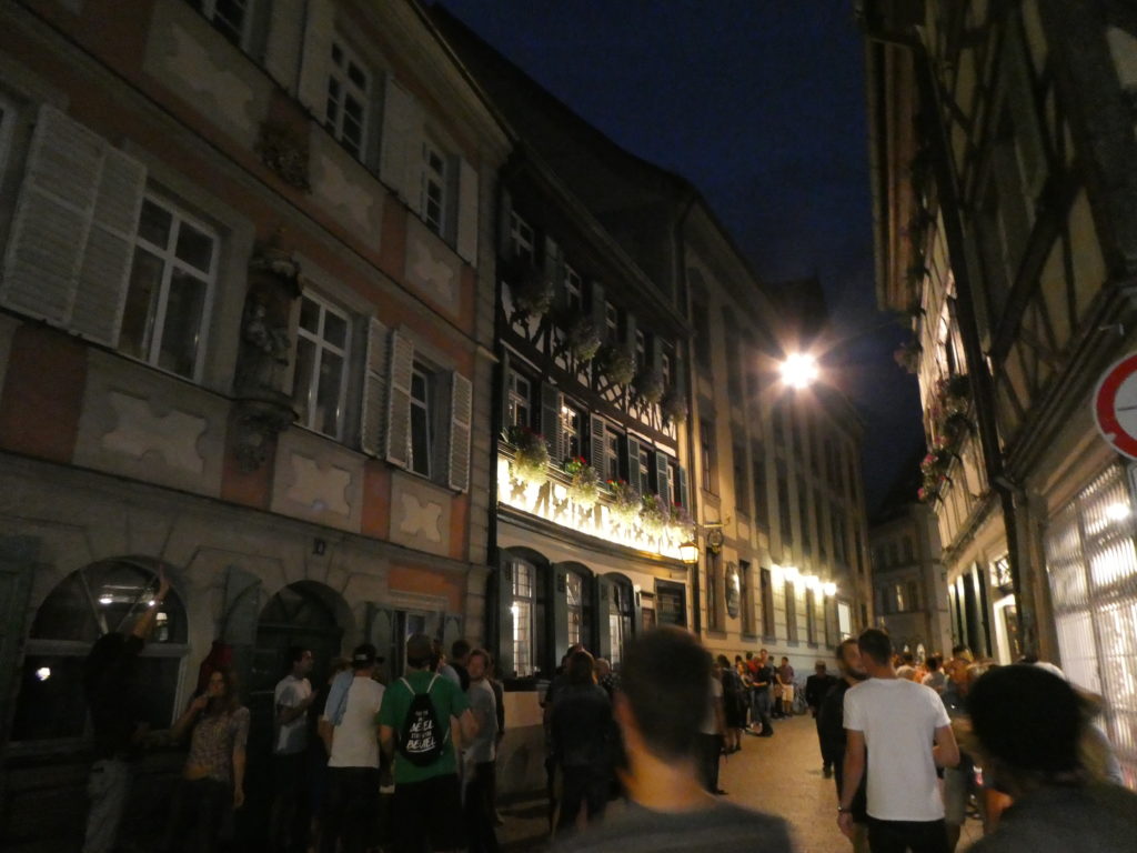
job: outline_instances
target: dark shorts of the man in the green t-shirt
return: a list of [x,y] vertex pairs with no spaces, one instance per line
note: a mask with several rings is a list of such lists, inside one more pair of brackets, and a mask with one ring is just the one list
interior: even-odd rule
[[431,850],[465,847],[458,775],[396,782],[391,819],[396,853],[421,853],[428,846]]

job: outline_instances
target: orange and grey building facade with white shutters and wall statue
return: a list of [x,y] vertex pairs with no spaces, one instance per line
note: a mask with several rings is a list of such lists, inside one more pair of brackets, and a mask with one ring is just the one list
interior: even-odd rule
[[289,645],[483,632],[505,131],[415,3],[131,9],[0,9],[6,850],[74,837],[83,656],[159,570],[147,715],[227,647],[250,825]]

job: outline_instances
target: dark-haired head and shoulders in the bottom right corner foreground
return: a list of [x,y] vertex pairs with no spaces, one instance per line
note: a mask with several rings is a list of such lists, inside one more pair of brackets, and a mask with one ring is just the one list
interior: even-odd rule
[[1014,797],[971,853],[1137,851],[1137,794],[1089,781],[1069,684],[1038,666],[1001,666],[976,681],[968,709],[987,784]]

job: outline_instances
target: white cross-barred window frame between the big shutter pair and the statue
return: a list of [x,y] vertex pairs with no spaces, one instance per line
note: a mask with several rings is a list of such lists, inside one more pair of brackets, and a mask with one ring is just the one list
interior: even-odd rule
[[[2,166],[2,163],[0,163],[0,166]],[[134,243],[133,243],[134,252],[131,255],[131,268],[126,278],[126,291],[124,295],[124,299],[126,301],[128,301],[130,299],[131,282],[133,281],[134,278],[134,263],[136,259],[138,250],[140,248],[149,252],[151,256],[158,258],[158,260],[160,260],[163,264],[161,282],[159,284],[160,290],[158,293],[157,305],[153,306],[152,317],[149,316],[149,309],[148,309],[147,323],[150,324],[151,333],[150,333],[149,345],[144,347],[147,351],[143,354],[143,356],[135,356],[122,350],[122,323],[119,323],[118,340],[116,341],[115,349],[122,355],[125,355],[127,358],[133,358],[134,361],[141,362],[146,365],[149,365],[150,367],[155,367],[156,370],[159,370],[164,373],[169,373],[173,376],[180,376],[182,379],[189,379],[192,382],[200,382],[202,371],[205,370],[206,350],[209,347],[209,328],[210,328],[209,320],[213,316],[214,299],[217,293],[217,270],[221,264],[221,254],[222,254],[221,232],[216,227],[207,223],[205,220],[186,212],[186,209],[182,205],[179,205],[176,201],[172,200],[168,196],[160,194],[149,189],[142,194],[142,205],[139,207],[139,224],[141,224],[142,208],[146,206],[147,202],[150,202],[151,205],[169,214],[171,229],[169,229],[169,235],[167,238],[167,247],[172,248],[159,248],[155,243],[151,243],[149,240],[143,238],[138,232],[138,230],[135,230]],[[181,373],[177,373],[176,371],[168,370],[158,364],[158,358],[161,355],[163,337],[166,331],[165,330],[166,312],[169,307],[169,283],[171,279],[173,278],[174,268],[180,268],[182,270],[182,272],[193,278],[197,278],[199,281],[202,280],[200,270],[194,267],[192,264],[181,260],[177,257],[177,238],[181,234],[182,223],[186,223],[192,227],[197,229],[198,231],[200,231],[201,233],[206,234],[207,237],[211,238],[214,246],[209,260],[209,272],[204,280],[206,285],[206,295],[205,299],[202,299],[201,301],[201,324],[200,329],[198,330],[197,353],[194,353],[193,356],[193,372],[192,375],[190,376],[184,376]],[[125,313],[126,313],[126,307],[124,303],[123,306],[124,316]],[[159,318],[161,322],[159,322]]]

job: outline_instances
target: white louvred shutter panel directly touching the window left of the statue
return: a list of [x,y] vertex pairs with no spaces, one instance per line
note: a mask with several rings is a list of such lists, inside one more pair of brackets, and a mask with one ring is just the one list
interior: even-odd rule
[[144,191],[146,167],[122,151],[108,149],[80,267],[70,326],[111,347],[118,343]]

